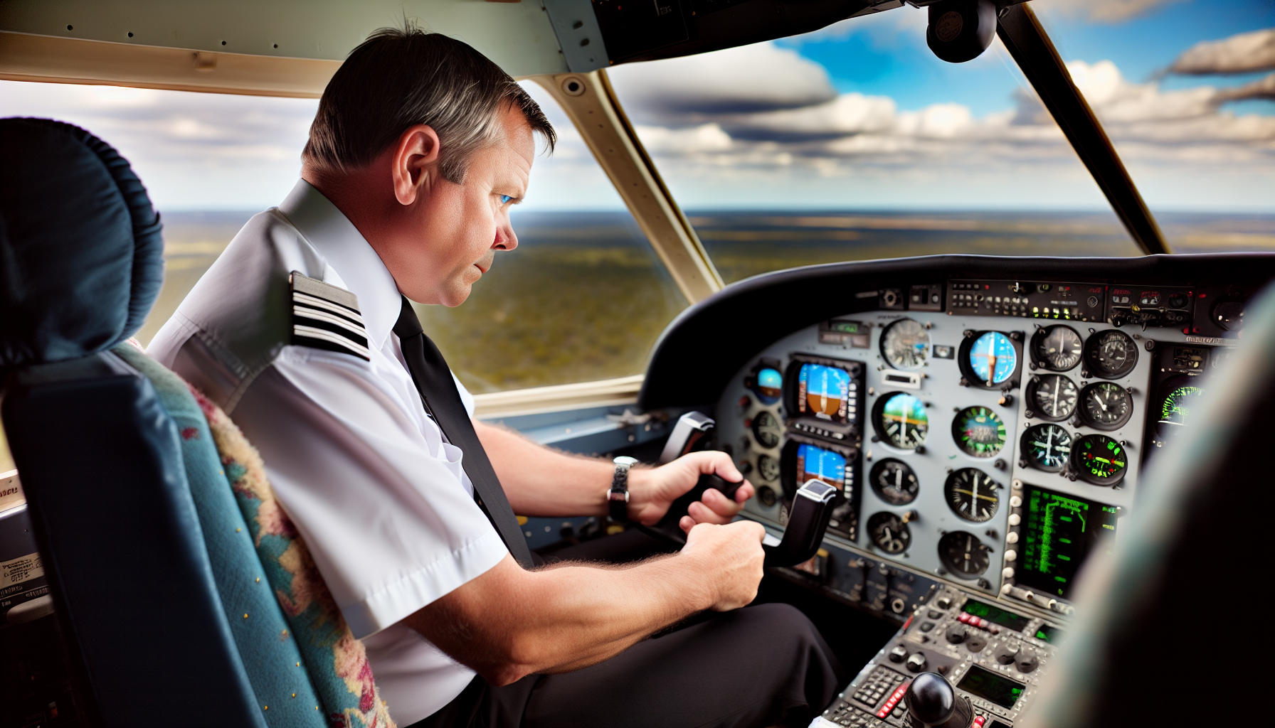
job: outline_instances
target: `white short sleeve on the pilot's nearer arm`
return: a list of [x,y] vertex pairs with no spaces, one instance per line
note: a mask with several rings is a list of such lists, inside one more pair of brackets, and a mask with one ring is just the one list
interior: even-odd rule
[[460,449],[371,366],[284,347],[233,412],[358,637],[509,552],[465,488]]

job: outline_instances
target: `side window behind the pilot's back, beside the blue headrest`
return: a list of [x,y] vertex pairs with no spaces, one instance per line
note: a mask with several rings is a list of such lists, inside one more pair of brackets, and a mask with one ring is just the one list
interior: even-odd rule
[[143,346],[254,214],[301,172],[319,101],[0,80],[0,116],[82,126],[129,159],[163,217],[164,282]]

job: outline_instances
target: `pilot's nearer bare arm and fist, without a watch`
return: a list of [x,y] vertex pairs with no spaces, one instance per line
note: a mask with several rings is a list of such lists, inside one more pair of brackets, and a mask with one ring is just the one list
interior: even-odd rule
[[495,567],[404,620],[491,685],[579,669],[704,609],[752,602],[765,529],[700,524],[674,555],[627,567]]

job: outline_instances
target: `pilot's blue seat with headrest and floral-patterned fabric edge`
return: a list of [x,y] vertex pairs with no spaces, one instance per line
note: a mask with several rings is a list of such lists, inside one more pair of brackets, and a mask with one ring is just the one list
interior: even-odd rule
[[125,343],[163,274],[127,162],[34,119],[0,159],[4,425],[87,722],[393,725],[255,450]]

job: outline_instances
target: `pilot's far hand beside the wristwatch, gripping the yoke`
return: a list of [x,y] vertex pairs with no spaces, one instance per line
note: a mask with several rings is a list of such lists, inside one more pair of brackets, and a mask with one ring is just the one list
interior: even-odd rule
[[[643,525],[654,525],[668,513],[668,506],[694,488],[700,476],[705,473],[717,473],[732,483],[743,479],[731,456],[717,450],[682,455],[658,468],[634,468],[629,472],[629,518]],[[690,533],[696,524],[731,523],[750,497],[752,497],[752,483],[748,481],[743,481],[733,500],[717,488],[709,488],[704,491],[701,500],[691,504],[687,515],[682,516],[678,525]]]

